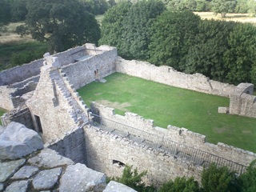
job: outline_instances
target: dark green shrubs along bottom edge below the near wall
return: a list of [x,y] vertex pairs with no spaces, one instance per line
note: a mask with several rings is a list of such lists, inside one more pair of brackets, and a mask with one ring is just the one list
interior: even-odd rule
[[121,182],[126,186],[130,186],[138,192],[158,191],[158,192],[253,192],[256,191],[256,160],[250,163],[246,172],[237,175],[230,172],[228,168],[218,167],[212,163],[208,168],[204,168],[201,174],[202,186],[193,177],[177,177],[173,180],[165,182],[158,190],[153,186],[145,186],[142,178],[146,175],[146,171],[138,173],[137,168],[132,170],[132,166],[126,166],[123,170],[121,178],[111,178],[117,182]]

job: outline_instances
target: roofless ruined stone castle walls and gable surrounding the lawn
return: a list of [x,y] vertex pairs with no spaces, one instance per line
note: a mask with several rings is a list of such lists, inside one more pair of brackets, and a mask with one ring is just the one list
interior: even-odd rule
[[45,147],[108,176],[119,176],[125,165],[147,170],[146,182],[155,185],[177,176],[199,180],[210,162],[241,174],[256,158],[250,151],[206,142],[204,135],[185,128],[163,129],[138,114],[118,115],[98,103],[86,106],[76,90],[97,73],[104,78],[114,72],[229,97],[230,106],[219,107],[219,113],[256,118],[253,84],[234,86],[169,66],[127,61],[114,47],[85,44],[0,72],[0,107],[9,110],[2,125],[21,122],[42,135]]

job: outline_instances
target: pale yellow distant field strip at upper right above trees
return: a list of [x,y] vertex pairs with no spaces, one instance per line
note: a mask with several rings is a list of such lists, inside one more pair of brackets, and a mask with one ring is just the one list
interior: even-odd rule
[[222,18],[221,14],[217,16],[213,12],[194,12],[198,14],[202,19],[215,19],[222,21],[232,21],[232,22],[250,22],[256,26],[256,18],[250,17],[249,14],[226,14],[226,18]]

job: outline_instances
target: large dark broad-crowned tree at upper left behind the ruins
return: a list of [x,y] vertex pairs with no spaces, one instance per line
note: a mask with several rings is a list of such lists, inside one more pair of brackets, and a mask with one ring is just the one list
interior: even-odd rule
[[94,15],[77,0],[28,0],[26,25],[19,34],[31,34],[40,42],[48,42],[50,51],[62,51],[84,42],[97,44],[100,30]]

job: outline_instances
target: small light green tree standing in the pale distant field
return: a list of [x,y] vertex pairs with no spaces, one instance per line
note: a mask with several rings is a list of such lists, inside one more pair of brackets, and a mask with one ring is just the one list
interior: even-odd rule
[[234,13],[236,0],[213,0],[211,2],[211,10],[217,15],[222,14],[222,18],[226,17],[227,13]]

